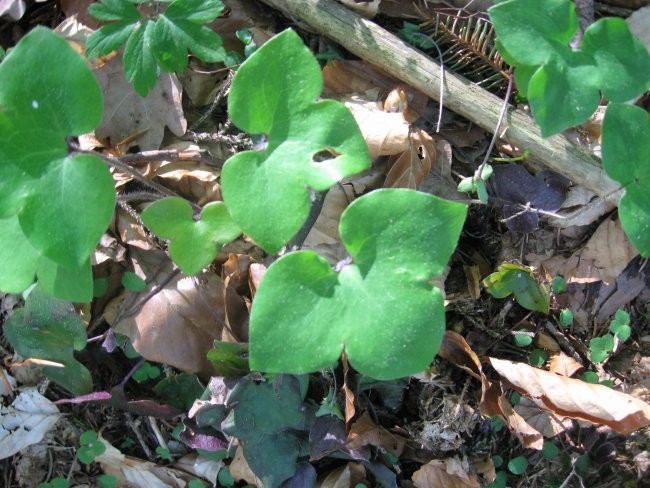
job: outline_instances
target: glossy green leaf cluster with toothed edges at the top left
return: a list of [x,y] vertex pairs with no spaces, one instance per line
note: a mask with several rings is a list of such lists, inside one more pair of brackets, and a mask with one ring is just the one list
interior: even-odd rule
[[88,12],[110,23],[88,38],[86,55],[105,56],[126,44],[124,74],[141,96],[147,96],[156,85],[161,69],[182,72],[188,51],[209,63],[225,59],[221,37],[204,25],[223,11],[220,0],[175,0],[155,19],[143,15],[134,5],[138,3],[142,2],[101,0],[92,4]]

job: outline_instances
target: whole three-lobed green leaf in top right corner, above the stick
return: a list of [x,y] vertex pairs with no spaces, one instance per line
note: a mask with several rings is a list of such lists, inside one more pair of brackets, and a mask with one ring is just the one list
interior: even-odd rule
[[506,0],[489,9],[504,59],[517,66],[520,93],[530,102],[542,134],[550,136],[588,118],[602,93],[624,102],[650,88],[650,55],[624,20],[589,26],[580,49],[569,0]]

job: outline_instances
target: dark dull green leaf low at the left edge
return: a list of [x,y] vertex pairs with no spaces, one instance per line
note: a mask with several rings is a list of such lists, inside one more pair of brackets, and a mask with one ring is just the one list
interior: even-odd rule
[[86,347],[86,329],[72,304],[49,297],[36,288],[25,307],[3,326],[5,337],[24,358],[55,361],[64,367],[46,366],[43,373],[52,381],[83,395],[92,390],[90,372],[73,356]]

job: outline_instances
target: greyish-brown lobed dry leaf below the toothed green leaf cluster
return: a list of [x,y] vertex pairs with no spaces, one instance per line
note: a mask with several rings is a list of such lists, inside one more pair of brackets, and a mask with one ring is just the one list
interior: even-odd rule
[[95,130],[99,139],[109,139],[115,147],[129,136],[146,131],[120,146],[124,151],[131,146],[146,151],[160,148],[165,127],[179,137],[185,134],[187,121],[181,103],[182,90],[173,73],[161,73],[146,98],[138,95],[124,78],[120,57],[96,69],[95,77],[104,94],[104,116]]

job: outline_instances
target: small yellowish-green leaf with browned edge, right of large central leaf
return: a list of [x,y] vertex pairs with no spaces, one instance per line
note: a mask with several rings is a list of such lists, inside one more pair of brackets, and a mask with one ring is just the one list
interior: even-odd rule
[[548,313],[549,292],[533,279],[532,271],[526,266],[501,264],[496,272],[483,280],[483,286],[495,298],[505,298],[514,293],[522,307]]

